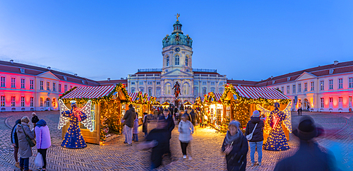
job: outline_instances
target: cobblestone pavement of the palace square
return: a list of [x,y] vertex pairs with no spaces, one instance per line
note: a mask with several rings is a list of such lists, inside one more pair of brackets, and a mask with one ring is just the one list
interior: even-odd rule
[[[27,115],[31,117],[31,112],[1,112],[0,113],[0,170],[13,170],[15,167],[13,160],[13,148],[10,142],[10,132],[16,119]],[[104,146],[97,146],[88,143],[87,148],[68,149],[62,148],[61,130],[57,129],[59,122],[59,112],[37,112],[40,119],[44,119],[52,135],[53,146],[47,153],[48,170],[147,170],[149,166],[150,151],[138,151],[137,143],[133,146],[124,146],[124,137],[118,136]],[[352,161],[352,141],[353,114],[347,113],[324,113],[324,112],[303,112],[303,115],[311,115],[318,124],[325,128],[325,136],[317,138],[321,146],[330,147],[334,142],[340,143],[342,156],[336,156],[346,164]],[[300,117],[296,112],[292,113],[292,123],[297,125]],[[149,130],[155,124],[149,125]],[[140,127],[141,129],[141,127]],[[142,133],[139,138],[143,140]],[[196,127],[191,143],[193,160],[184,160],[178,140],[178,131],[172,132],[170,158],[164,158],[163,164],[158,170],[225,170],[225,156],[220,152],[225,135],[216,134],[214,129],[209,127],[202,129]],[[273,152],[263,151],[263,165],[251,167],[248,153],[247,170],[273,170],[278,160],[293,155],[297,151],[299,143],[296,137],[290,136],[288,151]],[[32,149],[34,156],[30,158],[30,167],[35,169],[34,158],[37,150]],[[335,153],[336,155],[336,153]],[[257,153],[255,155],[257,159]],[[352,170],[352,165],[348,166]]]

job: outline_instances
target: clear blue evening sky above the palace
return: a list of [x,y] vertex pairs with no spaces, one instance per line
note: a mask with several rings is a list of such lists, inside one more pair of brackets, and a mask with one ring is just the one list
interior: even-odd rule
[[193,68],[260,81],[353,59],[353,1],[0,1],[0,60],[94,80],[162,68],[175,14]]

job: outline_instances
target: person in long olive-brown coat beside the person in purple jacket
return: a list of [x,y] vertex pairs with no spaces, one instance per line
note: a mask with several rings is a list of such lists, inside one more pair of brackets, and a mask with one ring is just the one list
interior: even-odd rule
[[32,156],[32,146],[35,146],[34,138],[35,134],[30,131],[30,125],[28,124],[30,119],[25,116],[21,119],[21,124],[16,127],[18,137],[18,148],[20,151],[20,170],[30,170],[30,156]]

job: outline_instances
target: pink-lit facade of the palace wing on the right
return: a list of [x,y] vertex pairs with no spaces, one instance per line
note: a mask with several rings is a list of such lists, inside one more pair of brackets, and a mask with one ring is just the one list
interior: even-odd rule
[[[275,84],[268,87],[279,88],[280,90],[283,88],[283,93],[292,100],[295,100],[297,96],[297,105],[293,105],[292,110],[297,110],[300,106],[305,110],[307,100],[309,102],[310,111],[313,112],[349,112],[349,108],[353,106],[352,72],[326,76],[309,75],[308,73],[306,76],[300,76],[295,81]],[[342,83],[340,83],[340,79],[342,79]],[[350,83],[349,80],[351,81]],[[332,81],[332,84],[330,84],[330,81]],[[311,83],[313,83],[313,89],[311,88]],[[307,90],[305,90],[305,84],[307,85]],[[295,85],[295,88],[293,85]],[[301,86],[301,90],[299,90],[299,85]],[[287,86],[289,86],[288,92]]]

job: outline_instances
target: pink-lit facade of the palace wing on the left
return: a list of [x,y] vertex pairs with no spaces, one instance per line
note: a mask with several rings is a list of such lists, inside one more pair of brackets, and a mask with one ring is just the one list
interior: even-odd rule
[[[0,77],[5,78],[5,85],[0,85],[0,102],[5,99],[4,103],[0,103],[1,112],[30,110],[42,111],[48,110],[49,108],[50,110],[59,110],[58,98],[65,92],[65,86],[67,86],[67,90],[70,90],[70,88],[75,86],[87,86],[69,81],[61,81],[50,72],[33,76],[23,73],[0,71]],[[14,85],[11,85],[11,79],[13,78],[15,79],[15,82]],[[25,81],[23,85],[21,85],[21,79],[24,79]],[[32,87],[30,81],[33,81]],[[41,81],[43,83],[43,90],[41,90],[40,86]],[[48,90],[47,83],[49,83]],[[55,87],[53,83],[55,83]],[[61,90],[59,90],[59,85],[61,85]],[[14,106],[11,102],[12,97],[15,97]],[[21,102],[21,98],[24,98],[24,102]],[[30,102],[31,98],[33,98],[32,104]],[[46,104],[47,99],[49,100],[47,101],[49,106]]]

